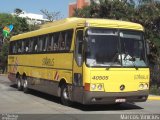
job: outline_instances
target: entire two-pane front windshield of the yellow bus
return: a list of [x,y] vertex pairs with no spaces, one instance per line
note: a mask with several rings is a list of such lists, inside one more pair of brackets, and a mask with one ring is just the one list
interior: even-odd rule
[[86,41],[88,66],[147,66],[142,32],[92,28]]

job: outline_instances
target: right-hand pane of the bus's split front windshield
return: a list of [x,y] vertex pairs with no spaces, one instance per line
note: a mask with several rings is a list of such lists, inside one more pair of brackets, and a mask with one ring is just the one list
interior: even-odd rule
[[146,66],[143,34],[136,31],[120,31],[123,66]]

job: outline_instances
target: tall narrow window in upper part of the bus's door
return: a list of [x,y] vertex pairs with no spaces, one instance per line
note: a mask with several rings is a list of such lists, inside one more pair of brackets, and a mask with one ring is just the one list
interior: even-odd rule
[[82,49],[83,49],[83,30],[78,30],[76,35],[76,50],[75,50],[75,56],[76,56],[76,62],[78,66],[82,65]]

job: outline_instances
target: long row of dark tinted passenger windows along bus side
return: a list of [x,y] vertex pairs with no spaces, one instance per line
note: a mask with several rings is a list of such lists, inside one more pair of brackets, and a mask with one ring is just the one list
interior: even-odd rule
[[11,54],[63,52],[70,50],[73,30],[36,36],[10,43]]

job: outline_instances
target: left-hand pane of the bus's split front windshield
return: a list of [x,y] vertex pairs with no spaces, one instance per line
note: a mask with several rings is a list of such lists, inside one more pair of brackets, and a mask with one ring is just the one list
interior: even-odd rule
[[120,66],[117,57],[118,31],[113,29],[94,29],[87,39],[86,62],[89,66]]

